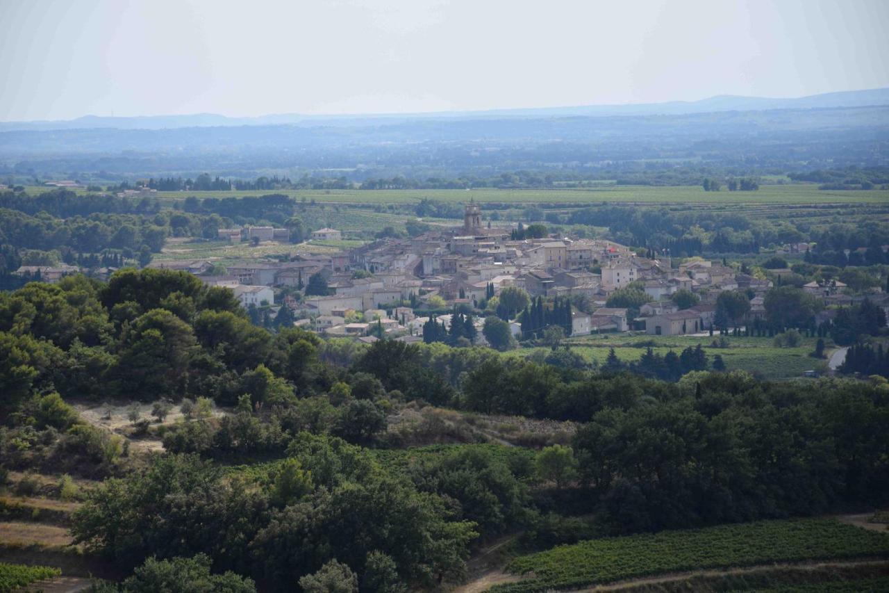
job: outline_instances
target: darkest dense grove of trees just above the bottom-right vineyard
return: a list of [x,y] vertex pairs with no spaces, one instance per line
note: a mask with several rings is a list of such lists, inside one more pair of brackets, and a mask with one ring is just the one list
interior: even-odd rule
[[602,410],[578,431],[581,477],[602,495],[614,530],[816,514],[884,497],[889,472],[877,459],[886,445],[876,431],[887,411],[876,389],[764,392],[734,373],[698,385],[697,399]]

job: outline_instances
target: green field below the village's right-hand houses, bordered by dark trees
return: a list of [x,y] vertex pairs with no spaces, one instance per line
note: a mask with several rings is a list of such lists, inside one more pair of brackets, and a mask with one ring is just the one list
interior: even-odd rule
[[[680,353],[683,349],[701,345],[712,363],[716,354],[721,354],[728,370],[747,370],[762,373],[765,378],[781,379],[799,377],[805,370],[813,370],[818,360],[808,354],[815,348],[817,338],[804,337],[795,348],[776,348],[771,337],[728,337],[728,347],[714,347],[711,342],[718,336],[648,336],[644,333],[599,334],[597,336],[573,337],[568,340],[573,352],[581,354],[587,361],[601,365],[614,348],[621,361],[638,361],[648,345],[661,355],[672,350]],[[506,353],[507,356],[525,357],[534,350],[547,348],[520,348]],[[829,350],[828,350],[829,353]]]

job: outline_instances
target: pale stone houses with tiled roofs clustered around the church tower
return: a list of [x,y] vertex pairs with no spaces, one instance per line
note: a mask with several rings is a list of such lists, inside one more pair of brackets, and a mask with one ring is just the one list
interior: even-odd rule
[[[515,240],[510,227],[483,225],[477,204],[467,205],[461,227],[426,232],[406,239],[385,239],[335,254],[306,254],[292,261],[257,261],[228,265],[223,275],[211,261],[157,262],[154,267],[184,270],[204,283],[231,288],[244,307],[270,305],[292,309],[296,324],[330,336],[355,336],[365,341],[371,334],[414,341],[421,339],[428,317],[417,311],[478,307],[503,288],[523,288],[532,297],[570,297],[581,308],[572,308],[572,335],[642,330],[652,335],[700,334],[714,325],[717,296],[725,290],[752,295],[744,323],[765,317],[765,292],[773,287],[764,280],[741,273],[722,262],[691,260],[674,267],[669,256],[639,256],[610,240],[543,238]],[[227,240],[286,240],[286,229],[251,226],[220,229]],[[339,240],[341,232],[321,229],[315,240]],[[278,298],[281,288],[305,288],[321,273],[327,295]],[[357,272],[357,273],[356,273]],[[780,280],[775,270],[771,277]],[[49,280],[56,271],[45,269]],[[51,280],[52,281],[52,280]],[[605,306],[615,290],[637,283],[650,301],[629,316],[626,308]],[[845,284],[806,284],[804,289],[831,305],[852,304],[854,296]],[[686,289],[700,302],[680,310],[670,299]],[[885,295],[884,295],[885,296]],[[428,305],[428,306],[426,306]],[[886,303],[889,310],[889,303]],[[448,323],[448,316],[437,318]],[[482,319],[476,320],[478,337]],[[520,324],[511,323],[513,332]]]

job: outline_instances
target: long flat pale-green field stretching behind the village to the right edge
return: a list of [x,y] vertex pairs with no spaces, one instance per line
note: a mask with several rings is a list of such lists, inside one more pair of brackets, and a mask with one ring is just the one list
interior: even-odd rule
[[[47,191],[34,186],[29,193]],[[759,191],[703,191],[700,186],[653,187],[647,185],[606,185],[582,189],[560,190],[264,190],[264,191],[160,191],[164,199],[234,198],[283,193],[295,198],[305,197],[316,202],[341,204],[410,204],[420,199],[448,202],[505,203],[701,203],[701,204],[885,204],[889,191],[822,191],[814,183],[763,185]]]

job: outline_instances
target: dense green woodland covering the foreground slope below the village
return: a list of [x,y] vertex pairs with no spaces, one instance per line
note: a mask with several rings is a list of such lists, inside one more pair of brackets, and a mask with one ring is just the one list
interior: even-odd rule
[[[565,512],[622,533],[885,504],[885,381],[772,383],[687,358],[669,383],[488,348],[357,345],[256,327],[185,272],[72,276],[0,295],[0,451],[6,469],[108,476],[73,532],[116,565],[206,555],[276,590],[319,571],[367,591],[459,579],[472,542],[517,527],[589,537]],[[144,470],[68,405],[116,397],[188,402]],[[388,410],[408,402],[578,424],[546,454],[381,463],[399,444]]]

